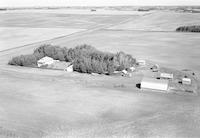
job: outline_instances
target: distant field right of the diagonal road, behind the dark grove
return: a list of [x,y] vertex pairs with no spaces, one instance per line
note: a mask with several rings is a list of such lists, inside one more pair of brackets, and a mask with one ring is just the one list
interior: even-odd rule
[[155,11],[151,14],[133,19],[111,29],[145,30],[145,31],[175,31],[179,26],[199,25],[200,13],[178,13]]

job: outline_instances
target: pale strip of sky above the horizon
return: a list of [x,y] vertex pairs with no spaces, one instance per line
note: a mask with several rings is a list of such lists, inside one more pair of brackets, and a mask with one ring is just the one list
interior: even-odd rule
[[0,0],[0,7],[200,5],[200,0]]

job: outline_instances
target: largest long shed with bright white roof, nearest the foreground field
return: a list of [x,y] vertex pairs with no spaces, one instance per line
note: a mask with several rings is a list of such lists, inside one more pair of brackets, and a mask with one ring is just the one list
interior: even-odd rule
[[158,91],[167,91],[169,86],[168,80],[157,80],[154,78],[143,78],[141,81],[141,89],[151,89]]

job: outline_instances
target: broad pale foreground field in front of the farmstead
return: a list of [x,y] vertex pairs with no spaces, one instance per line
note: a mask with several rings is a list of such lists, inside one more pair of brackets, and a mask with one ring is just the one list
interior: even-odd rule
[[[2,67],[0,75],[2,136],[200,135],[199,97],[140,92],[134,85],[141,74],[132,78],[132,85],[123,77],[23,67]],[[124,88],[114,87],[120,84]],[[132,90],[126,91],[129,86]]]

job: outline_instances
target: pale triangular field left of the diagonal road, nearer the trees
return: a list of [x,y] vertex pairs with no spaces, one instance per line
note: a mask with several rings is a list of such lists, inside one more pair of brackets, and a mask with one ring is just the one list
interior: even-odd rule
[[83,30],[67,28],[0,27],[0,51]]

